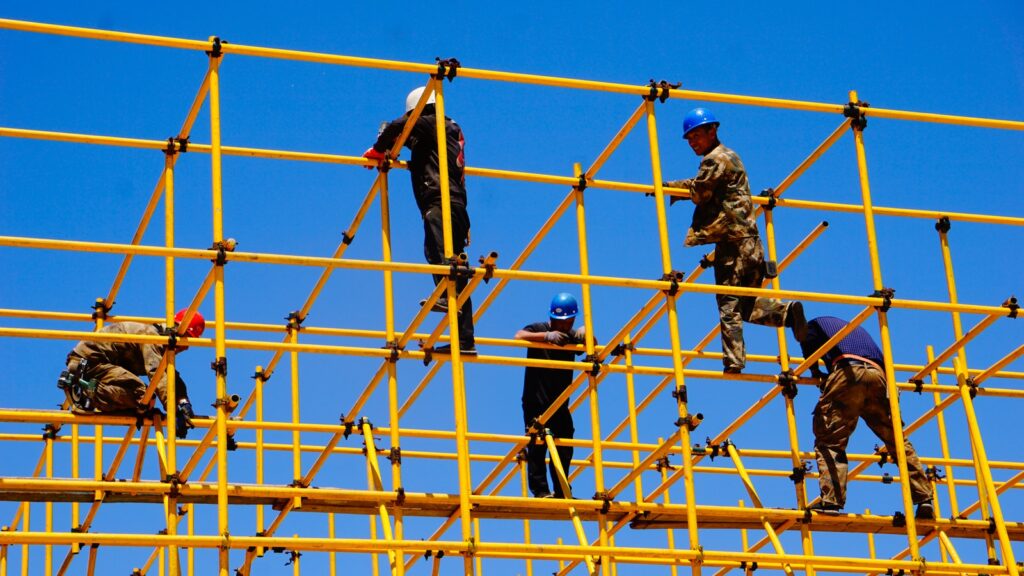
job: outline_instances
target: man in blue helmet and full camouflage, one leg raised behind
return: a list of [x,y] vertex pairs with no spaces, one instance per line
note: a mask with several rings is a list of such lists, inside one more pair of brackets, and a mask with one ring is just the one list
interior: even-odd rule
[[[695,108],[683,119],[683,137],[702,156],[693,178],[665,182],[690,190],[696,207],[685,246],[715,244],[715,283],[760,288],[765,277],[764,247],[754,219],[746,170],[739,156],[718,139],[719,122],[711,111]],[[670,206],[681,197],[673,196]],[[793,328],[797,340],[807,330],[803,304],[775,298],[717,294],[722,327],[725,373],[738,374],[746,365],[743,322]]]

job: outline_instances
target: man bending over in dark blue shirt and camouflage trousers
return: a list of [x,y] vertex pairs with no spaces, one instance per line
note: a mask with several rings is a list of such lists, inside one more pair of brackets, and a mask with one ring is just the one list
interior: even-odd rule
[[[807,358],[820,348],[829,338],[847,325],[846,321],[831,316],[811,320],[807,336],[800,342]],[[811,506],[816,510],[839,510],[846,504],[846,479],[849,464],[846,445],[857,427],[857,418],[863,418],[874,436],[885,443],[886,451],[896,458],[896,440],[893,417],[889,408],[886,387],[885,360],[878,344],[861,328],[854,328],[833,346],[821,362],[827,375],[817,363],[811,373],[821,380],[821,398],[814,407],[814,453],[818,461],[821,500]],[[910,494],[918,505],[915,518],[933,520],[932,486],[925,478],[925,470],[918,459],[913,445],[904,440],[906,469]]]

